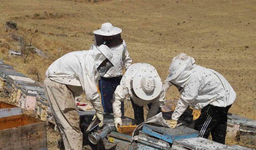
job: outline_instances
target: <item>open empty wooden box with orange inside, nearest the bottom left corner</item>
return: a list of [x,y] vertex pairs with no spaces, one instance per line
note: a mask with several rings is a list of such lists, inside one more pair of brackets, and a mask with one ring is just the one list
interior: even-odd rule
[[25,114],[0,118],[0,150],[47,150],[45,122]]

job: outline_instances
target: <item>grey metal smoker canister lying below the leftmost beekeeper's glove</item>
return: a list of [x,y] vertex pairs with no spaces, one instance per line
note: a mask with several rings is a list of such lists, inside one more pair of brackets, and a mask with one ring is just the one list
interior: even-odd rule
[[103,129],[98,132],[92,132],[88,135],[88,139],[92,144],[97,144],[103,138],[106,138],[111,131],[116,131],[114,124],[106,124]]

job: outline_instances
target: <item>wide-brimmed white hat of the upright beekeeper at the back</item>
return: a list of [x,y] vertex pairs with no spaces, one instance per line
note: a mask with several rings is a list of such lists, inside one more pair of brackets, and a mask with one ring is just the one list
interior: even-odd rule
[[114,27],[109,22],[106,22],[101,25],[101,28],[99,30],[95,30],[93,33],[102,35],[102,36],[113,36],[116,34],[120,34],[122,32],[122,29]]

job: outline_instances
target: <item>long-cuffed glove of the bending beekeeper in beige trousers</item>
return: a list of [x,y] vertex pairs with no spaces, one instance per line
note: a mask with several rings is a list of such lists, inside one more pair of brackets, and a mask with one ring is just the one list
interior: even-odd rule
[[92,118],[92,121],[94,119],[96,119],[96,117],[97,117],[100,120],[99,127],[102,127],[104,124],[104,121],[103,121],[104,117],[103,117],[103,109],[102,109],[102,104],[100,102],[100,99],[91,100],[90,102],[92,103],[92,106],[93,106],[94,110],[96,111],[96,114]]

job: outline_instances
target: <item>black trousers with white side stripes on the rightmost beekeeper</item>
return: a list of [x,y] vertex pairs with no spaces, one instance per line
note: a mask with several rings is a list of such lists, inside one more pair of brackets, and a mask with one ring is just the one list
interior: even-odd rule
[[227,115],[230,106],[217,107],[207,105],[201,110],[201,115],[196,120],[195,129],[200,131],[199,136],[208,138],[212,134],[212,140],[225,144]]

